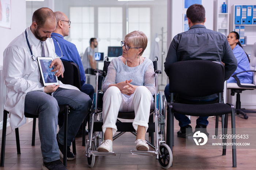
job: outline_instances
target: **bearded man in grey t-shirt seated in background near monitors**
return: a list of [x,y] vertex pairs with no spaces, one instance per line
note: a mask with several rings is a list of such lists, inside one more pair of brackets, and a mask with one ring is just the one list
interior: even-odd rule
[[[98,42],[96,38],[90,39],[90,46],[86,48],[84,55],[82,57],[83,69],[85,74],[94,74],[94,70],[96,69],[96,60],[95,60],[95,48],[97,48]],[[103,78],[99,76],[98,79],[98,90],[101,90]]]

